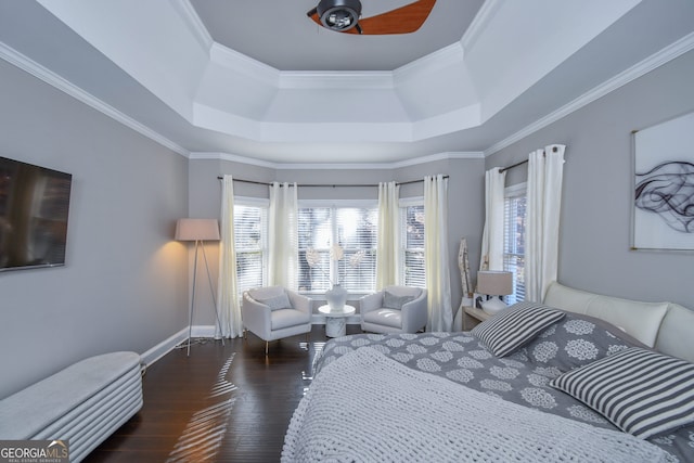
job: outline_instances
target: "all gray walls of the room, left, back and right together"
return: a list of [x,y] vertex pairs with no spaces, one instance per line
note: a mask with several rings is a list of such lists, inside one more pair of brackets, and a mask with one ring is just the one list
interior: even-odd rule
[[[271,169],[192,160],[162,147],[0,61],[0,155],[73,173],[67,266],[0,273],[0,397],[79,359],[144,352],[188,325],[189,253],[171,240],[180,217],[219,217],[218,175],[259,181],[375,183],[448,173],[452,305],[461,297],[458,243],[473,273],[484,220],[484,170],[567,145],[560,280],[589,291],[694,308],[694,254],[629,250],[631,136],[694,111],[694,52],[651,72],[483,159],[397,169]],[[523,169],[509,176],[523,181]],[[240,184],[236,195],[267,197]],[[403,187],[402,197],[421,196]],[[375,190],[305,189],[299,197],[375,197]],[[208,246],[213,278],[217,249]],[[195,324],[213,324],[201,291]]]

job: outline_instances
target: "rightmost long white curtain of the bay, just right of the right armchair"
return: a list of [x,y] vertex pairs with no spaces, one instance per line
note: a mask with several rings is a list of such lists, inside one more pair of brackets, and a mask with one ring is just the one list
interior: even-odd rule
[[424,178],[424,268],[429,320],[426,331],[451,331],[451,280],[448,263],[448,179]]

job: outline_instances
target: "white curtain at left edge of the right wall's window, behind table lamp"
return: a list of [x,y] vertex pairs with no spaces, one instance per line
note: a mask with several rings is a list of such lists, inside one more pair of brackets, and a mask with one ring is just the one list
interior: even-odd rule
[[485,228],[479,270],[503,270],[503,201],[506,172],[499,167],[485,173]]

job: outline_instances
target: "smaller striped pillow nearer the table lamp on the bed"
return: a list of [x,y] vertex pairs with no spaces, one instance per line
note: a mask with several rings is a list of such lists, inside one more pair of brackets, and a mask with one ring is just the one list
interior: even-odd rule
[[535,303],[519,303],[472,330],[497,357],[504,357],[531,340],[564,317],[558,309]]

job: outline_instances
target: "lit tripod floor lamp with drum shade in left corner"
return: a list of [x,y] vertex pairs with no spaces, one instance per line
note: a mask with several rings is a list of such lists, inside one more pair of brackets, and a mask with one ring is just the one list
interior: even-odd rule
[[[217,298],[213,287],[213,278],[209,274],[209,266],[207,265],[207,254],[205,253],[204,242],[219,241],[219,223],[217,219],[179,219],[176,223],[176,241],[194,241],[195,242],[195,265],[193,267],[193,292],[191,295],[191,310],[188,323],[188,356],[191,355],[191,337],[193,331],[193,308],[195,307],[195,285],[197,280],[197,249],[203,248],[203,257],[205,259],[205,269],[207,270],[207,281],[209,282],[209,291],[213,294],[213,304],[215,305],[215,316],[217,317],[217,325],[221,333],[221,322],[219,312],[217,311]],[[224,337],[221,338],[222,346]]]

